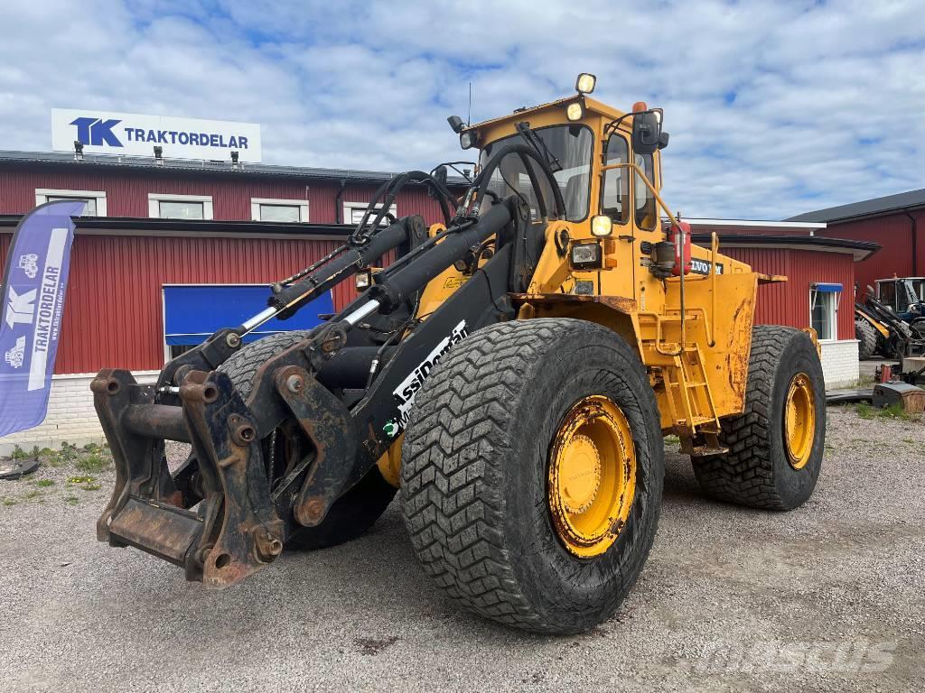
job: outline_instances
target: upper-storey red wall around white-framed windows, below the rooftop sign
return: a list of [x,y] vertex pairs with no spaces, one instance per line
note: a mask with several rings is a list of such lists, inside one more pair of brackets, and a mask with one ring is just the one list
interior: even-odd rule
[[[183,174],[163,171],[113,170],[88,164],[68,166],[0,166],[0,213],[26,213],[35,206],[35,190],[100,190],[106,193],[107,216],[148,216],[148,193],[210,195],[216,220],[251,218],[251,198],[309,201],[309,221],[334,224],[338,221],[336,201],[339,182],[278,176],[275,178]],[[342,201],[368,202],[376,186],[348,184]],[[425,188],[404,188],[396,202],[401,216],[421,214],[428,224],[442,221],[438,204],[427,197]]]

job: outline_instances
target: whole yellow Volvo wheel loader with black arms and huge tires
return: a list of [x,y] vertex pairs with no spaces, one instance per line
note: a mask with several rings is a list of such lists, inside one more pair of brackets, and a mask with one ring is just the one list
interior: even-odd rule
[[[117,480],[98,538],[223,588],[284,547],[359,535],[399,492],[452,600],[575,633],[643,569],[663,436],[720,501],[804,503],[825,435],[815,335],[753,324],[759,285],[783,277],[715,236],[691,245],[660,196],[661,110],[617,111],[595,81],[478,125],[450,117],[478,157],[462,196],[445,165],[395,176],[342,247],[154,385],[100,371]],[[388,215],[406,185],[442,223]],[[356,274],[369,286],[320,326],[243,343]],[[179,468],[165,440],[191,444]]]

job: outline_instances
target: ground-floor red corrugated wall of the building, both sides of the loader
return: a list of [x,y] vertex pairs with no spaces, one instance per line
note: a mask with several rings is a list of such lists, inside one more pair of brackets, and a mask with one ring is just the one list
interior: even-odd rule
[[[9,234],[0,234],[5,261]],[[95,372],[110,366],[156,370],[163,365],[161,286],[164,284],[269,284],[323,257],[332,240],[263,238],[113,237],[78,235],[57,373]],[[809,286],[845,286],[838,313],[840,339],[854,337],[851,255],[791,249],[723,252],[759,272],[785,274],[781,285],[759,286],[756,322],[806,327]],[[350,282],[335,290],[339,310],[353,297]]]

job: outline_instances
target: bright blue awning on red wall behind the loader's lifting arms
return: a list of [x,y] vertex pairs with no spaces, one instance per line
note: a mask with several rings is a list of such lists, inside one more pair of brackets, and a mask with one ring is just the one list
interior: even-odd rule
[[[222,327],[237,327],[266,308],[270,296],[268,286],[196,285],[164,286],[164,333],[166,343],[176,345],[202,344]],[[253,342],[267,334],[308,330],[324,322],[319,313],[334,312],[334,299],[326,292],[302,307],[289,320],[265,322],[244,337]]]

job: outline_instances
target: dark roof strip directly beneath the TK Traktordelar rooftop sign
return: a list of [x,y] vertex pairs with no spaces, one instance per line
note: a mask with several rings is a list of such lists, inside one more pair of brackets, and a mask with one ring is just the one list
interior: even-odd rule
[[[311,166],[280,166],[276,164],[251,164],[241,162],[237,166],[230,161],[205,159],[154,159],[154,156],[113,156],[111,154],[83,154],[75,158],[73,152],[13,152],[0,150],[0,165],[44,164],[56,166],[116,167],[141,169],[145,171],[182,171],[197,174],[228,176],[286,176],[324,180],[347,180],[360,183],[383,183],[396,176],[384,171],[357,171],[345,168],[317,168]],[[160,163],[157,163],[160,161]],[[465,185],[462,176],[449,176],[447,182],[453,186]]]

